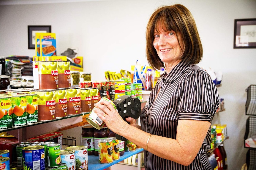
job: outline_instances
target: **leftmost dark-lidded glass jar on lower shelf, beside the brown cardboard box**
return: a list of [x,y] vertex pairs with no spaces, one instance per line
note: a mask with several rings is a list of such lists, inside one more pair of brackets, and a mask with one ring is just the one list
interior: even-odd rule
[[82,127],[82,145],[87,146],[88,155],[94,155],[94,127]]

